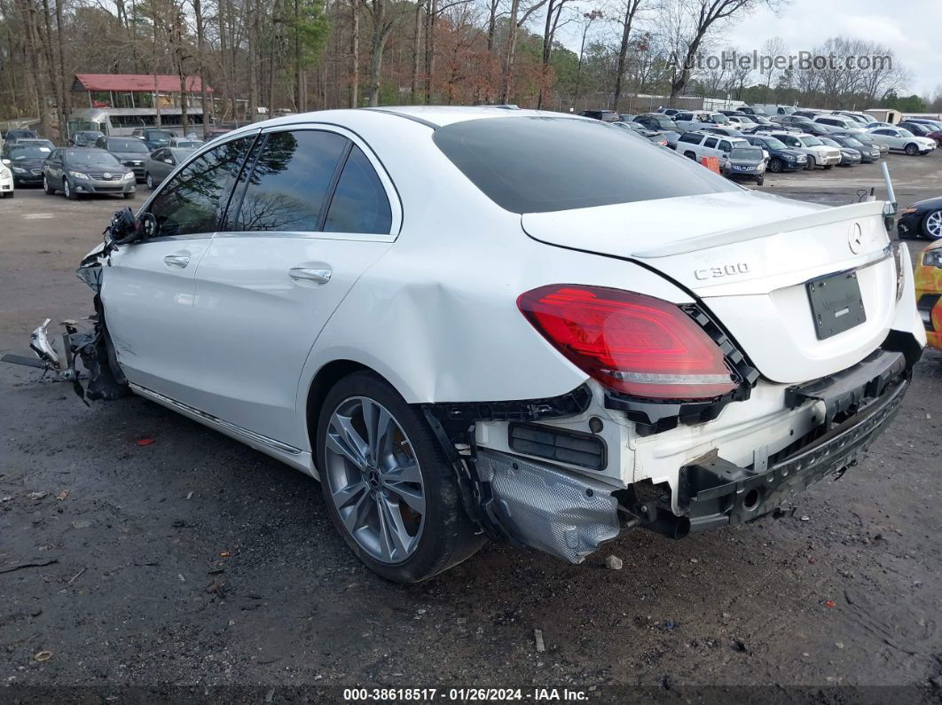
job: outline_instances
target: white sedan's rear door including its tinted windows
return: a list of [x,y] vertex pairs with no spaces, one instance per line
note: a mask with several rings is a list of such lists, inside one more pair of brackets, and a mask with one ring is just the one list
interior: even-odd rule
[[200,263],[204,341],[198,409],[305,449],[300,374],[350,287],[391,247],[401,207],[358,137],[330,126],[269,128]]

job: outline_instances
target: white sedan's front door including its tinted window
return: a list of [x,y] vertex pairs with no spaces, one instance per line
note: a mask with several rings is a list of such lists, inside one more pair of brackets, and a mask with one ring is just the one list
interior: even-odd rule
[[154,236],[117,249],[102,283],[108,330],[130,382],[192,405],[202,371],[193,320],[195,273],[252,137],[192,160],[143,211]]

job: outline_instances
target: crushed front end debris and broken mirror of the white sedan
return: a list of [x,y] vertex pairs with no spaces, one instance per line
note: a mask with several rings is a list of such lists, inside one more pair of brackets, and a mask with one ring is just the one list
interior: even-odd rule
[[[119,399],[128,393],[127,380],[118,365],[99,297],[102,263],[107,253],[117,247],[118,239],[122,237],[118,227],[125,227],[122,223],[127,219],[124,212],[116,214],[106,230],[105,245],[93,250],[75,271],[75,275],[95,292],[95,312],[81,320],[62,321],[64,331],[57,337],[50,336],[50,319],[47,318],[30,335],[29,347],[34,357],[10,353],[0,357],[0,361],[40,369],[43,376],[52,374],[62,381],[72,382],[78,398],[86,405],[99,399]],[[138,225],[133,224],[133,227],[139,230]],[[112,237],[112,233],[118,238]]]

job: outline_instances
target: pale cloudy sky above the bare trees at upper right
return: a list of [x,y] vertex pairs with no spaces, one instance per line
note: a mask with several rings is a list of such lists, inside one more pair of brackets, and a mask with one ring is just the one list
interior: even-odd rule
[[[587,10],[596,4],[583,0],[579,5]],[[613,28],[599,29],[614,40]],[[792,0],[778,14],[760,8],[744,15],[718,39],[721,46],[751,52],[761,51],[765,40],[781,37],[791,54],[811,51],[816,44],[838,35],[879,41],[911,72],[913,81],[907,93],[932,96],[942,85],[940,33],[942,0]],[[590,37],[595,34],[593,27]],[[563,44],[578,52],[581,29],[575,23],[560,35]]]

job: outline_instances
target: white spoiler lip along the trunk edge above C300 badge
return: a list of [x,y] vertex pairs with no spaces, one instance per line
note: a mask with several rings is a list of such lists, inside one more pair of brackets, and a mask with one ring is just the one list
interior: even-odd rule
[[805,228],[815,228],[820,225],[829,225],[842,220],[850,221],[854,218],[882,216],[885,212],[885,205],[885,202],[880,200],[851,203],[849,205],[815,211],[814,213],[805,213],[799,216],[772,220],[768,223],[749,225],[744,228],[707,232],[684,240],[678,240],[663,247],[634,252],[630,256],[642,260],[672,257],[679,254],[689,254],[690,252],[696,252],[701,249],[720,248],[724,245],[756,240],[782,232],[792,232],[804,230]]

